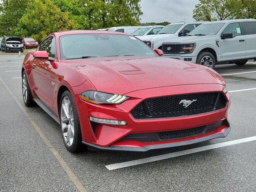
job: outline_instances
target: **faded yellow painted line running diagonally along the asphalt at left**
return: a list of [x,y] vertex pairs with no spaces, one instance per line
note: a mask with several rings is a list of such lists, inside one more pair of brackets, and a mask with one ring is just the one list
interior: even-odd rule
[[50,149],[50,151],[52,152],[52,154],[55,156],[55,158],[58,160],[58,162],[61,164],[62,168],[66,171],[66,173],[68,174],[70,180],[76,185],[76,187],[78,188],[78,190],[80,192],[87,192],[87,190],[84,188],[84,186],[82,185],[82,183],[78,180],[78,178],[76,177],[76,175],[74,174],[74,172],[72,172],[72,170],[70,169],[70,167],[68,166],[68,164],[65,162],[65,160],[62,158],[62,156],[60,156],[60,154],[57,152],[57,150],[54,148],[54,146],[51,144],[51,142],[46,138],[45,134],[42,132],[42,130],[39,128],[39,126],[36,124],[36,122],[34,121],[34,119],[28,114],[28,112],[26,111],[26,109],[22,106],[22,104],[19,102],[19,100],[16,98],[16,96],[12,93],[12,91],[10,90],[10,88],[6,85],[6,83],[2,80],[2,78],[0,77],[1,82],[4,84],[4,86],[6,87],[6,89],[8,90],[8,92],[11,94],[12,98],[14,98],[14,100],[16,101],[16,103],[18,104],[18,106],[21,108],[21,110],[24,112],[24,114],[26,115],[26,117],[28,118],[28,120],[30,120],[30,122],[32,123],[32,125],[34,126],[34,128],[36,129],[36,131],[38,132],[38,134],[40,135],[40,137],[44,140],[44,142],[46,143],[46,145],[48,146],[48,148]]

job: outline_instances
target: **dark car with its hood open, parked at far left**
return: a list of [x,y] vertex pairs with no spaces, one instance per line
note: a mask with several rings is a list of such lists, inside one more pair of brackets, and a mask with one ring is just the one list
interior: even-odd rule
[[1,41],[1,51],[4,52],[23,52],[22,39],[14,36],[4,36]]

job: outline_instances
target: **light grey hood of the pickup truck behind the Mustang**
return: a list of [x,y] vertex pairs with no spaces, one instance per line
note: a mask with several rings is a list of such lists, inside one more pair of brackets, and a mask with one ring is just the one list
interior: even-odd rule
[[185,36],[185,37],[177,37],[177,38],[167,38],[164,40],[164,43],[194,43],[198,40],[208,40],[212,36],[206,35],[206,36]]

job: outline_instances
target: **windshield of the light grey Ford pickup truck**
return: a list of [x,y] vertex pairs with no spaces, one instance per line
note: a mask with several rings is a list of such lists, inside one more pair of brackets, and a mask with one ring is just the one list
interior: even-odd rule
[[223,26],[224,23],[201,24],[188,35],[216,35]]

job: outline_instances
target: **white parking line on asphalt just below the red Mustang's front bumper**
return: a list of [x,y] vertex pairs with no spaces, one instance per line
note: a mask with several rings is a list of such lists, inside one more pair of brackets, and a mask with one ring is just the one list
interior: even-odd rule
[[243,138],[243,139],[238,139],[238,140],[227,141],[227,142],[223,142],[223,143],[217,143],[217,144],[207,145],[207,146],[203,146],[203,147],[188,149],[188,150],[184,150],[184,151],[178,151],[178,152],[164,154],[164,155],[158,155],[158,156],[153,156],[153,157],[148,157],[148,158],[143,158],[143,159],[138,159],[138,160],[133,160],[133,161],[110,164],[110,165],[106,165],[106,168],[108,170],[120,169],[120,168],[124,168],[124,167],[164,160],[164,159],[168,159],[168,158],[188,155],[188,154],[192,154],[192,153],[207,151],[207,150],[211,150],[211,149],[215,149],[215,148],[220,148],[220,147],[225,147],[225,146],[230,146],[230,145],[235,145],[235,144],[240,144],[240,143],[245,143],[245,142],[250,142],[250,141],[255,141],[255,140],[256,140],[256,136],[253,136],[253,137],[248,137],[248,138]]

